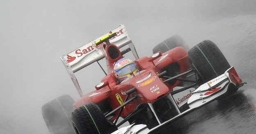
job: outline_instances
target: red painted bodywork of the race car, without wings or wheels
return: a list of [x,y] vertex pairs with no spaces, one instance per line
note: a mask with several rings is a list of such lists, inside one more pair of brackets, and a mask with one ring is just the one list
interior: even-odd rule
[[[180,81],[175,81],[171,84],[163,83],[158,77],[158,73],[163,72],[166,67],[171,64],[178,64],[179,72],[185,72],[190,68],[187,51],[182,47],[173,48],[162,56],[152,61],[152,57],[142,57],[135,60],[139,68],[139,75],[130,77],[121,83],[117,83],[114,77],[113,66],[118,59],[122,58],[121,52],[114,44],[104,46],[106,51],[106,61],[109,74],[105,76],[101,81],[105,83],[103,88],[97,88],[93,92],[86,94],[84,97],[80,98],[74,103],[74,108],[79,108],[80,106],[87,103],[101,103],[107,101],[111,109],[115,109],[120,106],[126,98],[126,94],[122,94],[127,90],[135,87],[137,90],[133,94],[137,94],[138,98],[132,101],[130,104],[126,105],[121,113],[121,117],[126,117],[128,114],[133,112],[137,105],[141,103],[151,103],[156,101],[158,98],[168,94],[173,90],[175,86],[180,84]],[[119,55],[114,59],[111,58],[110,49],[116,48]],[[117,52],[115,52],[117,53]],[[160,53],[160,52],[159,52]],[[161,55],[161,53],[160,53]],[[133,94],[130,97],[133,97]],[[114,117],[110,121],[116,119],[118,112],[114,114]]]

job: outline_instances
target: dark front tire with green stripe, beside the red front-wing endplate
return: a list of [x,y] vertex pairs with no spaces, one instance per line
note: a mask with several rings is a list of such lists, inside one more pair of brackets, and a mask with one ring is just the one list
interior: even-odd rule
[[230,68],[219,48],[210,40],[200,42],[188,51],[192,66],[197,70],[203,83],[222,75]]

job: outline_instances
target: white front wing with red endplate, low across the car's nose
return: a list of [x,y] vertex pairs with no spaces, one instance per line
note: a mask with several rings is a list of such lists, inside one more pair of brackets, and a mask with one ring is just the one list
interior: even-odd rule
[[[135,132],[136,134],[153,134],[155,130],[158,130],[160,127],[166,125],[167,123],[177,119],[178,117],[184,116],[185,114],[192,112],[192,110],[196,110],[203,105],[214,101],[218,97],[227,94],[232,90],[235,91],[237,88],[243,86],[243,82],[235,71],[234,67],[229,68],[224,72],[224,74],[216,77],[199,86],[196,90],[192,92],[192,96],[188,99],[187,104],[189,105],[189,109],[181,112],[180,114],[174,116],[173,118],[160,123],[159,125],[153,127],[149,130],[146,125],[129,125],[127,127],[122,127],[116,132],[112,134],[126,134],[127,132]],[[189,90],[189,89],[188,89]],[[171,94],[170,94],[171,95]],[[175,103],[175,105],[177,105]]]

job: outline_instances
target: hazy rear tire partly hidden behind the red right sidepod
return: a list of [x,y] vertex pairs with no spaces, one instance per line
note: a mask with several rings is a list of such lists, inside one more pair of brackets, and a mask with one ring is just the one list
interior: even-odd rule
[[185,41],[179,35],[174,35],[156,45],[153,48],[153,54],[157,53],[158,51],[164,53],[177,46],[181,46],[188,51],[188,46],[185,44]]

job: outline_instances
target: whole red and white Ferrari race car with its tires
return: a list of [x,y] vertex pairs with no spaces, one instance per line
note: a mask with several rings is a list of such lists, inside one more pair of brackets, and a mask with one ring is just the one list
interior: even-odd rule
[[[133,66],[129,77],[119,81],[115,64],[131,54],[128,52],[133,54]],[[103,59],[106,71],[98,62]],[[152,133],[244,84],[210,40],[188,50],[175,35],[156,45],[152,56],[139,58],[123,25],[61,56],[61,60],[81,98],[74,101],[63,95],[42,106],[50,134]],[[105,77],[94,91],[84,95],[74,73],[94,62]],[[130,125],[123,127],[127,123]]]

